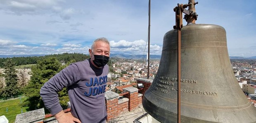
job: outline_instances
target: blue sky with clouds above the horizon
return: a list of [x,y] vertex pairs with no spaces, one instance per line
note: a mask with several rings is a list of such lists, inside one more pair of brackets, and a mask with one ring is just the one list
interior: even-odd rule
[[[256,56],[256,0],[197,1],[196,23],[224,27],[230,56]],[[161,55],[173,8],[187,2],[151,0],[150,54]],[[99,37],[111,53],[143,54],[147,28],[148,0],[0,0],[0,55],[88,53]]]

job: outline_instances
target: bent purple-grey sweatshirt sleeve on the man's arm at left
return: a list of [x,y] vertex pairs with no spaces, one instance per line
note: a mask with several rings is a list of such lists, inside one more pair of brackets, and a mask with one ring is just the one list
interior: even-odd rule
[[70,64],[62,71],[53,76],[48,82],[45,82],[40,89],[40,96],[45,107],[52,115],[59,113],[62,107],[59,104],[58,93],[64,87],[68,87],[81,79],[79,67],[76,64]]

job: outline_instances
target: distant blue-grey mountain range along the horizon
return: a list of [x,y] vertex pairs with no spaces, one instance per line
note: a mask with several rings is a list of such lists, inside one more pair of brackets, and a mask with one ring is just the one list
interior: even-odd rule
[[[88,54],[86,54],[88,55]],[[45,56],[45,55],[0,55],[0,58],[12,58],[12,57],[33,57],[33,56]],[[128,55],[128,54],[114,54],[111,53],[110,57],[112,58],[121,58],[121,59],[146,59],[147,55]],[[254,57],[229,57],[230,59],[256,59]],[[150,55],[150,59],[161,59],[161,55]]]

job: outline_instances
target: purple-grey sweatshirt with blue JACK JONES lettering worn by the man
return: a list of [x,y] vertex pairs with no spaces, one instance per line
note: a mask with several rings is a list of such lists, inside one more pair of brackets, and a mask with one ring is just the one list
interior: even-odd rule
[[106,123],[105,89],[109,66],[96,68],[90,59],[70,64],[40,90],[45,107],[52,115],[62,110],[58,91],[67,87],[71,113],[82,123]]

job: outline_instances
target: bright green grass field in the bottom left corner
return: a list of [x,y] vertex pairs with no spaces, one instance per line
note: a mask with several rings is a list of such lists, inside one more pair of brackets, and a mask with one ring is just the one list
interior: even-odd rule
[[[26,100],[26,97],[21,97],[21,101]],[[9,99],[0,102],[0,116],[5,115],[8,119],[9,123],[14,123],[16,115],[21,114],[21,109],[24,112],[27,112],[26,109],[28,107],[21,107],[19,105],[20,98]],[[8,112],[6,112],[6,108],[8,107]]]

